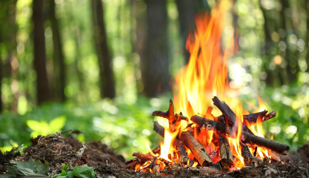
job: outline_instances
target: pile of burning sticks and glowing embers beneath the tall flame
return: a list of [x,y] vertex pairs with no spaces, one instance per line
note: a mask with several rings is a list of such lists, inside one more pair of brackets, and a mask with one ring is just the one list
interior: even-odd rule
[[[173,102],[170,100],[169,109],[166,112],[155,111],[153,116],[160,116],[167,118],[169,122],[169,132],[175,133],[176,136],[171,140],[171,146],[175,151],[169,152],[168,157],[162,156],[162,147],[156,147],[147,154],[133,153],[136,158],[126,162],[126,168],[136,171],[150,171],[156,174],[165,172],[175,167],[220,167],[221,170],[231,171],[239,166],[236,162],[239,161],[232,154],[231,146],[229,144],[229,138],[235,138],[236,134],[240,134],[240,159],[243,162],[243,166],[249,164],[259,164],[262,162],[280,161],[280,157],[277,154],[285,155],[284,151],[289,150],[290,147],[284,143],[277,142],[272,139],[263,138],[255,135],[248,128],[251,124],[256,122],[263,122],[276,116],[276,112],[269,114],[267,110],[262,112],[243,115],[243,123],[240,123],[240,130],[236,130],[235,125],[239,124],[236,119],[236,114],[231,108],[224,102],[220,101],[218,97],[213,99],[214,105],[222,112],[221,116],[213,117],[213,120],[205,117],[194,115],[189,120],[182,113],[174,114]],[[208,111],[209,113],[211,112]],[[184,130],[178,130],[181,122],[186,122],[186,128]],[[237,127],[237,126],[236,126]],[[164,138],[167,133],[163,126],[158,122],[154,122],[154,130],[160,136]],[[200,140],[194,136],[198,134],[199,138],[203,138],[207,131],[213,131],[211,135],[211,142],[217,149],[209,150],[207,145],[202,144]],[[250,148],[250,149],[249,149]],[[267,150],[267,156],[263,159],[257,156],[258,148]],[[207,150],[211,151],[208,152]]]

